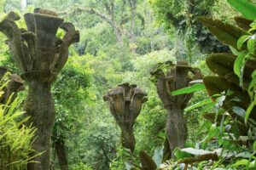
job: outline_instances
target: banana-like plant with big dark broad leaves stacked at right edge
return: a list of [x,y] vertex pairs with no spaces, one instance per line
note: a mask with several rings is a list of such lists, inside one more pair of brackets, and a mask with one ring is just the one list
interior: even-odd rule
[[[198,18],[203,26],[220,42],[230,46],[233,52],[208,56],[207,66],[216,76],[204,77],[203,82],[210,96],[224,91],[231,92],[221,106],[240,124],[240,131],[245,134],[248,127],[243,123],[244,120],[255,126],[253,120],[256,118],[256,25],[253,23],[256,19],[256,6],[244,0],[228,2],[243,14],[243,17],[235,18],[237,26],[207,16]],[[215,101],[216,97],[212,99]],[[209,114],[206,117],[209,118]]]

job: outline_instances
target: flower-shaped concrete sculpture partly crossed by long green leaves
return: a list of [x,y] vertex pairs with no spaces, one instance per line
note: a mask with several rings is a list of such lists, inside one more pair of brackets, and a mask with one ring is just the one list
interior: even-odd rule
[[[157,93],[168,111],[166,135],[170,150],[173,151],[176,147],[183,148],[187,139],[188,130],[183,111],[192,94],[172,96],[172,92],[188,87],[190,81],[201,79],[202,75],[199,69],[192,68],[186,61],[177,61],[177,65],[172,63],[170,65],[170,62],[167,62],[166,66],[166,73],[161,68],[157,68],[151,72],[151,76],[156,80]],[[189,71],[194,77],[189,77]]]

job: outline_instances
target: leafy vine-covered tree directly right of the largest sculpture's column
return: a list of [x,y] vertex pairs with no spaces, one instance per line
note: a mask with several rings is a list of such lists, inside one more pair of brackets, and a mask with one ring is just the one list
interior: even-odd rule
[[[52,145],[63,170],[68,169],[66,143],[67,141],[75,142],[70,137],[70,133],[78,133],[72,131],[74,126],[83,126],[83,122],[78,123],[77,119],[84,114],[79,108],[83,108],[84,100],[88,98],[87,88],[90,87],[89,69],[84,64],[78,65],[79,62],[83,62],[83,58],[75,54],[70,57],[52,90],[57,113],[53,127]],[[74,149],[70,148],[70,150]]]

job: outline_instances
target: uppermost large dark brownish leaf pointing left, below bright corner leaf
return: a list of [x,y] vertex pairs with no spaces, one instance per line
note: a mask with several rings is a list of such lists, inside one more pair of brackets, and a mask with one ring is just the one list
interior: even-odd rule
[[[218,41],[223,42],[232,48],[237,49],[238,39],[247,35],[247,32],[241,30],[241,28],[225,24],[220,20],[212,20],[208,17],[199,17],[198,20],[203,26],[206,26],[215,37],[218,38]],[[246,49],[246,46],[243,46],[242,49]]]

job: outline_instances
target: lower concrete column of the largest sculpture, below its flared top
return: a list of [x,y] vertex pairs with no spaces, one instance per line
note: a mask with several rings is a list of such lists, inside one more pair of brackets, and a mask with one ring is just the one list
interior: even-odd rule
[[33,153],[32,156],[45,151],[33,160],[41,163],[28,164],[28,170],[49,170],[49,144],[55,121],[55,106],[50,94],[51,83],[31,80],[28,86],[25,111],[27,116],[31,116],[28,123],[37,128],[36,139],[32,144],[37,153]]

